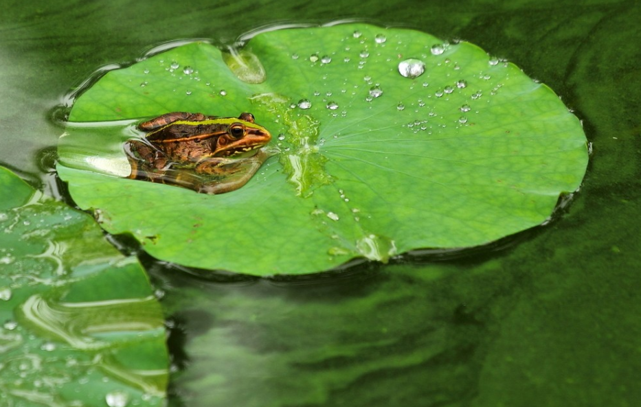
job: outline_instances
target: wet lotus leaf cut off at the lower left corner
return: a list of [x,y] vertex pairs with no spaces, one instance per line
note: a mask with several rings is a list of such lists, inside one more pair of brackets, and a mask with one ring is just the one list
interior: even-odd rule
[[0,406],[161,406],[163,315],[137,260],[2,167],[0,185]]

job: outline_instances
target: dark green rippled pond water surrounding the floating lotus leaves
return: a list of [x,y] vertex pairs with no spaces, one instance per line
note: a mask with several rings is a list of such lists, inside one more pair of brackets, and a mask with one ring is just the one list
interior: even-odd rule
[[177,38],[358,18],[461,38],[548,84],[594,154],[559,220],[467,257],[164,290],[175,406],[636,406],[641,400],[641,5],[635,1],[9,1],[0,163],[51,191],[54,106],[100,66]]

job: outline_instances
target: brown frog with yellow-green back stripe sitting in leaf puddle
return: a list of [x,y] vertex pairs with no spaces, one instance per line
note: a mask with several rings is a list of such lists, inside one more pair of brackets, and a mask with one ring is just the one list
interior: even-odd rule
[[165,113],[137,125],[144,139],[126,141],[128,178],[165,183],[204,194],[243,187],[273,150],[267,128],[251,113],[218,117],[203,113]]

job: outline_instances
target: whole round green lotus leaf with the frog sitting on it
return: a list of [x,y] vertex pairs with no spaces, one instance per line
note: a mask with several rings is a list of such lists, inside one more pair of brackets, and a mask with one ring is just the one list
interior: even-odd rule
[[[168,111],[250,111],[280,154],[218,196],[115,177],[128,174],[122,143],[142,136],[98,122]],[[60,176],[107,231],[159,259],[256,275],[485,244],[546,221],[587,165],[578,119],[515,65],[364,24],[170,49],[106,73],[69,119]]]

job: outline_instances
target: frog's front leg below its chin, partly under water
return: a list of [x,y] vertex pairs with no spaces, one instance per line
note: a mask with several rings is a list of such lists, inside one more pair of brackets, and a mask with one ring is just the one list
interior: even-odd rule
[[213,158],[207,159],[196,165],[195,171],[199,174],[215,174],[218,179],[203,180],[197,185],[196,191],[203,194],[224,194],[243,187],[258,171],[262,163],[272,153],[263,150],[254,156],[243,159]]

